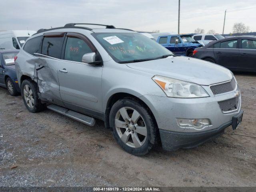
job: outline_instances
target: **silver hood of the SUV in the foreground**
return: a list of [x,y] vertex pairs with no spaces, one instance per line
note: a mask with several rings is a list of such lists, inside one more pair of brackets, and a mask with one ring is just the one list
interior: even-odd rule
[[128,67],[199,85],[210,85],[232,79],[232,72],[211,62],[184,56],[126,64]]

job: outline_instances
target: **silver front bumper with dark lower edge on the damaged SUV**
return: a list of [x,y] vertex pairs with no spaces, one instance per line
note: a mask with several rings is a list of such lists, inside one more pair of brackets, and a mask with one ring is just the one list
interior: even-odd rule
[[[144,95],[142,100],[152,110],[160,130],[162,146],[165,150],[179,148],[193,148],[207,140],[218,137],[224,129],[232,125],[234,116],[241,114],[241,96],[239,88],[226,94],[214,96],[208,86],[203,86],[210,97],[206,98],[168,98],[153,95]],[[239,92],[239,105],[236,110],[222,112],[219,101],[234,98]],[[209,119],[210,126],[203,129],[185,128],[177,123],[177,118]]]

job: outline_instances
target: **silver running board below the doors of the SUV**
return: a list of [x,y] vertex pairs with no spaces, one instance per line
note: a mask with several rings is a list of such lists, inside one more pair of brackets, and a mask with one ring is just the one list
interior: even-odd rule
[[95,119],[94,118],[88,117],[88,116],[83,115],[83,114],[78,113],[78,112],[74,112],[74,111],[69,110],[67,108],[60,107],[58,105],[53,105],[53,104],[48,105],[47,108],[50,109],[50,110],[53,110],[57,113],[60,113],[62,115],[68,116],[68,117],[70,117],[74,120],[77,120],[81,123],[84,123],[86,125],[94,126],[94,124],[95,124]]

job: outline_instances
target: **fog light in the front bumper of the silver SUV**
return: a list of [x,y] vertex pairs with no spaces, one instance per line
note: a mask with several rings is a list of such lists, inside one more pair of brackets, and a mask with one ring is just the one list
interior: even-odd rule
[[178,125],[186,128],[202,129],[205,126],[211,125],[209,119],[183,119],[177,118]]

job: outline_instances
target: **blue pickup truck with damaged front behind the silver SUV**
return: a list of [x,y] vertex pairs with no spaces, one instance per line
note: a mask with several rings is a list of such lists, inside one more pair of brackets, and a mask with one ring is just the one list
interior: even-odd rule
[[157,42],[177,55],[188,57],[192,57],[195,48],[203,46],[192,35],[159,36]]

